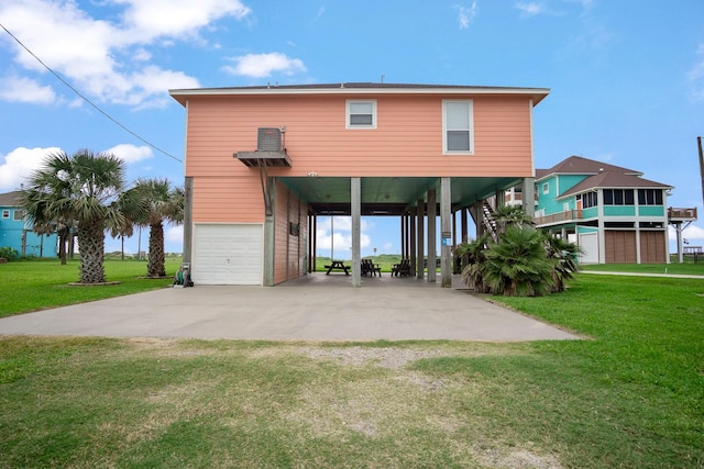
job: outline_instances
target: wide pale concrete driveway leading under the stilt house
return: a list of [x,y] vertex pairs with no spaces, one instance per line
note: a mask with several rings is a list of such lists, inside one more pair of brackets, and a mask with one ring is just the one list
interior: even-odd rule
[[[579,338],[425,280],[314,273],[264,287],[168,288],[0,320],[0,335],[275,340]],[[81,287],[90,288],[90,287]]]

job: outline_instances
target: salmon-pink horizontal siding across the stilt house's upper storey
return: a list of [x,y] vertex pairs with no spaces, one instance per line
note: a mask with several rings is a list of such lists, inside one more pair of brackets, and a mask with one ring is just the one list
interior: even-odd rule
[[285,125],[293,167],[273,168],[271,176],[531,176],[525,97],[464,97],[474,100],[475,153],[468,156],[442,155],[442,97],[352,98],[377,100],[377,129],[345,129],[344,96],[191,98],[186,175],[258,181],[256,169],[232,154],[256,148],[257,127]]

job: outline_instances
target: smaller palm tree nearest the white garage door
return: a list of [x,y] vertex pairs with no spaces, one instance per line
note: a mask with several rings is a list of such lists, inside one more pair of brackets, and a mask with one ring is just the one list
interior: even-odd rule
[[144,216],[135,223],[150,227],[150,255],[147,277],[166,277],[164,267],[164,222],[180,224],[184,221],[184,189],[172,188],[168,179],[140,179],[131,192],[147,204]]

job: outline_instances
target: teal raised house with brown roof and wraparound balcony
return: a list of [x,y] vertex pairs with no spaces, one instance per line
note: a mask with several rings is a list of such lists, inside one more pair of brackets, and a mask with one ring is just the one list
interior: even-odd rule
[[579,244],[582,264],[669,263],[672,189],[640,171],[571,156],[536,169],[536,226]]

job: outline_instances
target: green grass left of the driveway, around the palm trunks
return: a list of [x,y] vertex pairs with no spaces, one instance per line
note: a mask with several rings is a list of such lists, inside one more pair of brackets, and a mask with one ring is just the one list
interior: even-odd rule
[[[166,259],[166,273],[178,270],[180,259]],[[139,260],[106,260],[106,278],[119,284],[75,287],[79,261],[68,260],[64,266],[57,259],[22,260],[0,264],[0,317],[38,311],[47,308],[103,300],[142,291],[165,288],[172,279],[144,279],[146,263]]]

